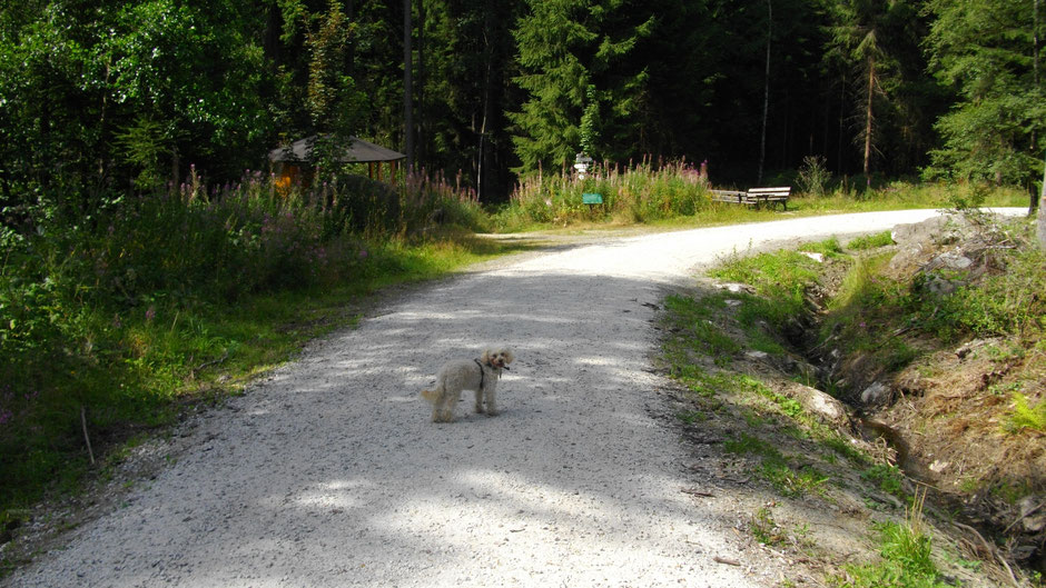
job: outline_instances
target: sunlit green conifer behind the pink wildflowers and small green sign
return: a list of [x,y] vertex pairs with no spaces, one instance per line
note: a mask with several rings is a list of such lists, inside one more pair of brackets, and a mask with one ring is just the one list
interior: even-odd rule
[[559,167],[579,149],[616,159],[639,143],[645,64],[630,60],[655,22],[621,0],[530,0],[514,31],[526,94],[510,113],[520,171]]

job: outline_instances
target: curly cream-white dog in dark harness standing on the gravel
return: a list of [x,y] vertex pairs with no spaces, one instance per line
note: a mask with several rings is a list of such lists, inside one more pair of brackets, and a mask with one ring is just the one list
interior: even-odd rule
[[509,369],[513,359],[515,356],[510,349],[484,349],[477,359],[458,359],[444,365],[436,375],[436,387],[422,391],[422,396],[432,402],[432,421],[454,420],[454,408],[461,400],[462,390],[475,390],[476,412],[486,412],[489,417],[497,415],[494,390],[501,372]]

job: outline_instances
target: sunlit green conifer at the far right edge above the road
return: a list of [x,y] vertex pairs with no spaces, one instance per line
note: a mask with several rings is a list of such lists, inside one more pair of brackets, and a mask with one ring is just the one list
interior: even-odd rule
[[1028,183],[1042,166],[1046,96],[1038,0],[930,0],[931,69],[958,96],[937,121],[929,177]]

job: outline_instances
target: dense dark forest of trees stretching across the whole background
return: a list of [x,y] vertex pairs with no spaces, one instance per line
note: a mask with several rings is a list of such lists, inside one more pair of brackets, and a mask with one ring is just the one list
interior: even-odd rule
[[190,170],[233,181],[317,132],[409,148],[416,169],[483,202],[581,150],[708,161],[718,185],[816,157],[855,183],[1030,189],[1046,131],[1040,3],[6,2],[2,218],[89,216]]

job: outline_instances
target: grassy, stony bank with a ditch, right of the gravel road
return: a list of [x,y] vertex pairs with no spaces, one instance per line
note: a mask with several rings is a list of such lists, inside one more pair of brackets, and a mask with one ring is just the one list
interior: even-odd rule
[[[909,464],[908,449],[912,456],[921,451],[920,459],[930,455],[937,465],[946,464],[929,482],[936,485],[938,508],[951,505],[957,514],[963,511],[957,505],[988,496],[978,510],[967,512],[980,520],[994,516],[1013,521],[1018,504],[1042,491],[1046,400],[1038,383],[1046,366],[1046,309],[1037,292],[1046,283],[1046,263],[1043,252],[1028,245],[1026,221],[981,222],[975,219],[975,235],[955,246],[980,263],[966,272],[932,266],[916,271],[938,253],[898,269],[905,266],[890,260],[904,249],[889,247],[892,239],[882,232],[845,245],[829,239],[802,245],[800,251],[736,256],[709,273],[747,288],[665,300],[663,358],[689,392],[677,410],[680,426],[700,431],[699,447],[721,437],[722,462],[713,470],[752,477],[772,489],[774,498],[752,510],[752,537],[817,560],[825,570],[821,579],[831,586],[936,588],[958,585],[957,576],[996,574],[997,579],[1009,574],[994,558],[979,560],[955,547],[955,536],[961,534],[949,530],[940,510],[935,511],[935,526],[924,521],[926,497],[915,490],[912,477],[931,460],[917,470],[899,467]],[[822,261],[805,252],[820,253]],[[912,275],[919,278],[912,280]],[[941,296],[927,287],[934,279],[957,287]],[[865,369],[876,381],[900,378],[906,397],[895,411],[867,408],[905,436],[897,438],[906,450],[900,461],[889,447],[852,440],[855,431],[846,425],[826,420],[799,401],[809,397],[789,380],[848,399],[860,396],[861,388],[836,388],[811,378],[803,369],[806,359],[796,359],[798,339],[786,337],[797,323],[809,331],[801,341],[812,355],[829,357],[843,369]],[[951,403],[943,408],[945,402]],[[877,408],[882,412],[874,412]],[[947,469],[959,460],[965,460],[965,471]],[[846,517],[827,526],[810,522],[817,517],[797,505],[811,501],[821,502],[818,510],[852,515],[858,522],[851,527],[862,525],[860,534],[874,549],[841,548],[838,534],[826,539],[833,535],[830,527]],[[904,507],[907,516],[900,518]],[[782,511],[803,529],[801,537],[779,522]],[[995,529],[1003,534],[999,544],[1017,545],[1014,552],[1029,551],[1020,547],[1028,540],[1019,531],[1006,536],[1012,528]],[[825,542],[817,545],[817,539]],[[838,565],[841,555],[849,559],[855,552],[865,554],[857,558],[861,562]],[[1040,585],[1035,569],[1024,572]]]

